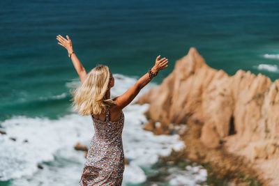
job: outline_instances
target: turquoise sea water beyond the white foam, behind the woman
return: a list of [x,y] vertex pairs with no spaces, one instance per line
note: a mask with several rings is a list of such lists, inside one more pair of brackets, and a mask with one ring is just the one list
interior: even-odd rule
[[79,79],[58,34],[70,36],[87,72],[105,64],[135,81],[161,54],[169,68],[152,80],[160,84],[196,47],[229,75],[243,69],[278,79],[278,10],[276,0],[1,1],[0,121],[73,114],[69,90]]

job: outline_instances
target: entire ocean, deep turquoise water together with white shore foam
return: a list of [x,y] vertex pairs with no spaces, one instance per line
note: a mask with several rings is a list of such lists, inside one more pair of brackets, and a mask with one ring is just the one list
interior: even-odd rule
[[[87,72],[98,64],[110,67],[116,78],[112,95],[132,86],[158,54],[169,59],[169,67],[142,93],[160,84],[190,47],[229,75],[250,70],[274,81],[279,78],[278,10],[276,0],[1,1],[0,127],[7,134],[0,134],[0,185],[77,185],[80,178],[85,159],[73,146],[89,143],[93,125],[70,105],[69,91],[80,79],[66,49],[57,44],[58,34],[70,36]],[[153,168],[159,157],[183,143],[177,134],[142,130],[147,108],[130,104],[123,110],[123,145],[130,160],[123,184],[206,184],[199,165],[173,166],[165,179],[153,180],[161,173]]]

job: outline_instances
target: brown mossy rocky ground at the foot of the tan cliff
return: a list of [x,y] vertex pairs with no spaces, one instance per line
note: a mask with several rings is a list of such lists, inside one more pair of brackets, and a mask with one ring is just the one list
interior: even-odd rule
[[[194,121],[191,121],[194,124]],[[183,124],[181,124],[183,125]],[[187,125],[187,130],[179,134],[186,148],[175,151],[162,157],[164,162],[181,162],[190,160],[204,166],[208,176],[206,183],[209,185],[266,185],[265,180],[259,178],[257,171],[246,162],[244,157],[229,154],[224,147],[217,149],[206,148],[199,141],[202,125]],[[220,161],[222,160],[222,161]]]

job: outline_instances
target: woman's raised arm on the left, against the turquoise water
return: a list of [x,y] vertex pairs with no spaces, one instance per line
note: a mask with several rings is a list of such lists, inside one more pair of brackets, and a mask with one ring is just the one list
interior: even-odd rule
[[86,79],[86,70],[83,67],[82,63],[80,63],[80,60],[77,58],[77,55],[75,54],[73,50],[73,44],[70,40],[69,36],[66,36],[68,40],[63,38],[61,35],[56,36],[56,39],[59,40],[58,44],[65,47],[68,50],[68,54],[70,59],[73,61],[73,65],[75,67],[75,70],[77,70],[77,74],[80,76],[80,81],[83,83]]

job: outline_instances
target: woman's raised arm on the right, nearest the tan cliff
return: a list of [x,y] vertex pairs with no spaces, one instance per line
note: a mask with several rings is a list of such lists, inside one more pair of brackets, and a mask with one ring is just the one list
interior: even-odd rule
[[[155,65],[153,66],[153,68],[151,68],[151,72],[156,74],[160,70],[167,68],[168,62],[169,61],[166,58],[160,59],[160,55],[157,56]],[[153,76],[151,76],[151,79],[153,79]],[[116,100],[116,107],[118,107],[119,110],[126,107],[130,102],[133,101],[137,94],[140,93],[140,90],[144,88],[146,84],[151,82],[151,79],[149,79],[149,72],[146,72],[146,74],[138,79],[137,82],[128,89],[128,91],[126,91],[119,97],[114,98],[114,100]]]

